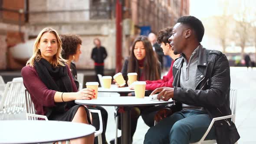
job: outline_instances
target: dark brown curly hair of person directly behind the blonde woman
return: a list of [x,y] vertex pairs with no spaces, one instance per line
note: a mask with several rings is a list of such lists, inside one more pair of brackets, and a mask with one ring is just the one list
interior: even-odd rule
[[64,59],[69,59],[70,55],[76,53],[77,45],[82,45],[82,39],[78,35],[61,35],[60,39],[62,41],[62,57]]

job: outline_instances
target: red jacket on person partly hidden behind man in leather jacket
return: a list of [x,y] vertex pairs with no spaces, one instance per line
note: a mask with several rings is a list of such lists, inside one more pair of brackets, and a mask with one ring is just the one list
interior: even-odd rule
[[163,76],[163,79],[157,80],[157,81],[146,81],[146,90],[154,91],[156,88],[161,87],[173,87],[173,75],[172,75],[172,66],[173,66],[174,60],[171,62],[171,68],[167,75]]

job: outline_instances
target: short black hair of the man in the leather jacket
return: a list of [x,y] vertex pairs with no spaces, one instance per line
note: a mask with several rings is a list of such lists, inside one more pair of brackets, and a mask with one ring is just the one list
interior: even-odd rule
[[182,16],[177,20],[177,23],[182,23],[189,26],[195,31],[195,36],[197,37],[198,42],[200,43],[203,39],[204,27],[203,23],[194,16]]

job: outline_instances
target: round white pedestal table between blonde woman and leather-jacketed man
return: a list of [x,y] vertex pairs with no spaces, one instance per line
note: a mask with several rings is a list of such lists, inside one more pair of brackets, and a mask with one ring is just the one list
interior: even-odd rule
[[[118,92],[108,91],[108,92]],[[127,91],[126,91],[127,92]],[[151,101],[149,97],[145,98],[135,98],[131,96],[121,96],[121,97],[98,97],[92,100],[75,100],[75,103],[80,105],[98,105],[98,106],[118,106],[124,107],[125,112],[121,113],[121,141],[122,144],[131,144],[130,140],[130,107],[134,106],[148,106],[148,105],[166,105],[171,103],[169,101]]]

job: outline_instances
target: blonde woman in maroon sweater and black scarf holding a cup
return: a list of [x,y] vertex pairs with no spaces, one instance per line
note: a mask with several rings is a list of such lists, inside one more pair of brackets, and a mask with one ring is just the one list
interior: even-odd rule
[[[77,91],[69,67],[62,58],[62,42],[55,29],[45,28],[36,38],[33,56],[21,70],[23,83],[30,92],[36,114],[49,120],[91,124],[88,108],[76,99],[91,99],[93,89]],[[71,144],[93,144],[94,134],[71,140]]]

